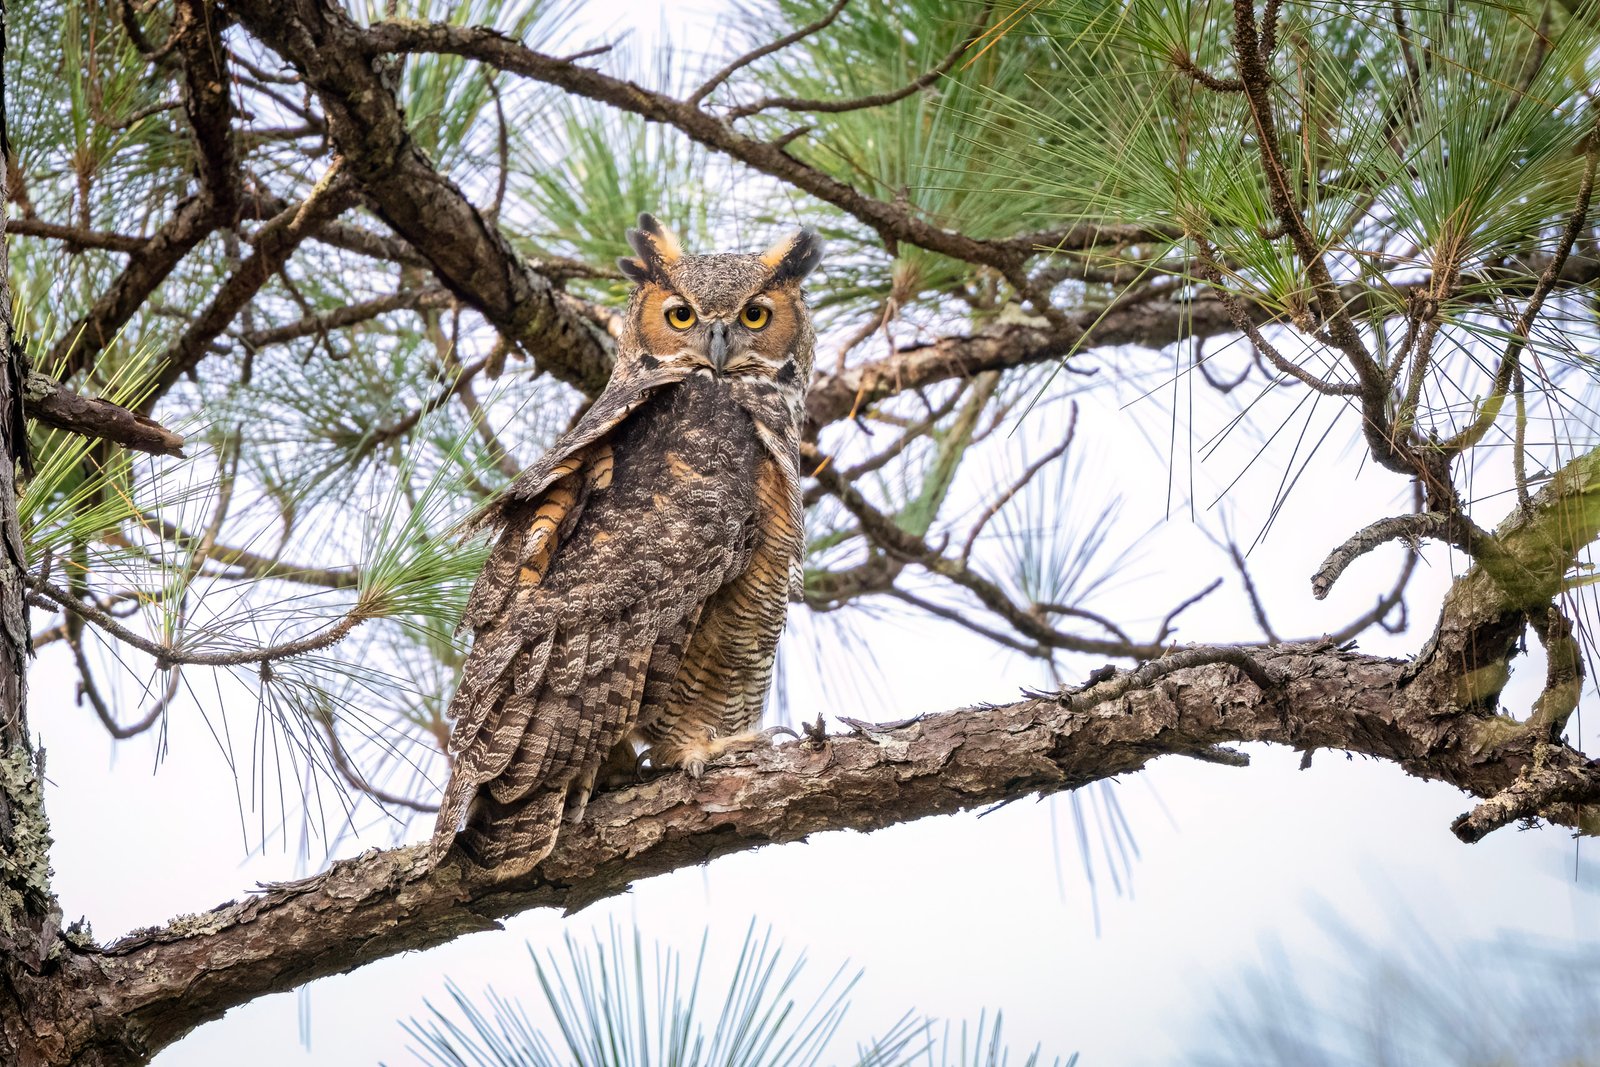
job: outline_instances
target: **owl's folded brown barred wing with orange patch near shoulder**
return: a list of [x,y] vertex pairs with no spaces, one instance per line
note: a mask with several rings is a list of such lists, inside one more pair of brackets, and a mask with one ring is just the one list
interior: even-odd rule
[[594,422],[579,422],[560,454],[530,470],[536,488],[502,498],[494,522],[504,530],[467,606],[477,640],[451,702],[454,758],[435,859],[475,798],[498,835],[528,837],[488,841],[486,865],[547,848],[566,787],[627,734],[667,665],[656,661],[682,656],[707,598],[749,558],[754,498],[738,472],[674,486],[672,464],[642,456],[618,472],[616,434],[648,398],[637,384],[629,390],[632,400],[605,410],[602,397]]

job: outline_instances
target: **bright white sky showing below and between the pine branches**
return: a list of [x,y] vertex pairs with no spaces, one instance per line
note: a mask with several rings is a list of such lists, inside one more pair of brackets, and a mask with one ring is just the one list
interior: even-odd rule
[[[704,27],[701,14],[686,11],[710,6],[672,5],[675,32],[685,22]],[[662,8],[645,0],[590,3],[582,18],[598,27],[630,22],[648,38],[664,22]],[[714,32],[696,35],[709,50],[718,46]],[[1165,485],[1162,458],[1139,430],[1144,422],[1165,442],[1165,408],[1123,410],[1104,395],[1083,418],[1080,440],[1098,442],[1096,469],[1109,482]],[[1200,480],[1226,482],[1238,456],[1224,450]],[[1334,478],[1328,485],[1341,486],[1339,494],[1291,494],[1258,553],[1258,582],[1285,632],[1334,625],[1389,581],[1387,557],[1373,558],[1352,569],[1349,587],[1331,603],[1315,605],[1307,595],[1309,574],[1333,539],[1394,509],[1400,486],[1370,470],[1350,486],[1355,466],[1347,453],[1318,459],[1307,477]],[[1254,526],[1243,517],[1270,494],[1280,467],[1267,462],[1240,490],[1238,526],[1250,536]],[[1181,469],[1179,485],[1186,478]],[[1350,486],[1349,496],[1342,486]],[[1104,490],[1083,486],[1085,499]],[[1162,518],[1165,493],[1128,488],[1126,494],[1136,512],[1128,530]],[[1147,569],[1178,576],[1173,601],[1229,574],[1182,522],[1163,526],[1144,560]],[[1419,629],[1450,573],[1448,555],[1434,552],[1414,584],[1413,630],[1363,638],[1363,648],[1405,653],[1422,641]],[[1194,613],[1187,637],[1253,637],[1235,582],[1227,603],[1221,595],[1213,600]],[[797,713],[890,720],[1005,701],[1037,683],[1032,667],[944,624],[891,621],[864,632],[890,681],[888,699],[874,693],[850,701],[837,685],[824,691],[797,662],[790,672]],[[152,773],[154,739],[114,745],[88,709],[74,705],[69,680],[61,649],[46,649],[34,672],[32,718],[48,749],[56,885],[69,920],[88,915],[94,933],[112,939],[213,907],[258,880],[301,873],[285,851],[242,856],[234,782],[198,721],[173,721],[170,752]],[[1067,801],[1024,801],[982,819],[966,814],[872,835],[822,835],[720,859],[645,881],[571,918],[523,915],[499,933],[314,984],[309,1049],[290,993],[230,1013],[155,1064],[408,1064],[398,1021],[421,1013],[424,998],[445,1001],[446,976],[469,992],[490,984],[520,992],[539,1017],[525,942],[546,949],[563,931],[605,931],[613,921],[637,923],[646,941],[685,952],[709,926],[714,966],[728,969],[755,917],[792,952],[810,957],[816,985],[851,960],[866,977],[853,997],[846,1046],[886,1030],[907,1009],[960,1021],[1002,1008],[1013,1048],[1038,1041],[1050,1054],[1080,1051],[1083,1064],[1163,1064],[1198,1051],[1218,997],[1238,989],[1242,968],[1269,942],[1282,944],[1302,973],[1334,984],[1347,953],[1326,936],[1318,920],[1325,910],[1368,936],[1394,929],[1398,942],[1426,929],[1445,944],[1509,931],[1600,945],[1600,869],[1586,853],[1574,875],[1574,845],[1565,832],[1506,830],[1469,848],[1450,835],[1448,822],[1470,803],[1450,787],[1341,753],[1318,753],[1309,773],[1296,769],[1291,752],[1258,747],[1251,755],[1250,769],[1168,758],[1115,787],[1141,859],[1131,893],[1122,896],[1098,865],[1099,936]],[[411,837],[422,833],[418,825]],[[387,843],[386,835],[363,841]]]

